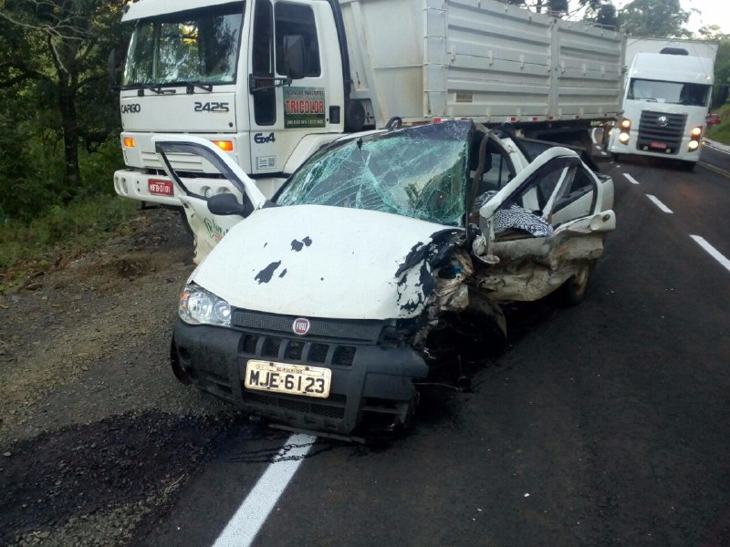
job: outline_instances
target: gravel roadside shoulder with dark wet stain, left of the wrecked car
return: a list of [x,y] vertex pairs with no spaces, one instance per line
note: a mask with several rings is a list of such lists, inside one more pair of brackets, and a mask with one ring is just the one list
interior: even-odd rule
[[175,212],[0,296],[0,545],[125,545],[241,417],[172,376]]

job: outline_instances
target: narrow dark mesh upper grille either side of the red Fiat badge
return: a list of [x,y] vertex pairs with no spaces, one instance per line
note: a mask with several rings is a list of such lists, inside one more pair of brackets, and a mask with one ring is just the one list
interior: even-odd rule
[[[235,309],[232,315],[234,326],[266,332],[292,334],[292,325],[297,317],[293,315],[262,314],[248,310]],[[375,344],[381,335],[382,321],[309,319],[308,336],[357,340]]]

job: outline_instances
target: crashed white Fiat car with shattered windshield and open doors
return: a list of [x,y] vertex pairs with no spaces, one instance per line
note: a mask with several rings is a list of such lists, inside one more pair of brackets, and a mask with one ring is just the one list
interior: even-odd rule
[[[616,225],[612,181],[576,152],[517,171],[518,140],[471,121],[340,139],[273,202],[203,139],[156,146],[199,239],[221,240],[183,291],[175,374],[318,434],[407,425],[443,332],[499,345],[501,304],[556,290],[577,304]],[[170,157],[191,153],[233,191],[187,192]]]

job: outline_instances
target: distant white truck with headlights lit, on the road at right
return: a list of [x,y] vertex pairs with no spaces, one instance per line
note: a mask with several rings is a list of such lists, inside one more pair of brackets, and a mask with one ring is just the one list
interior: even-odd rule
[[623,106],[608,150],[678,160],[692,170],[700,159],[712,100],[717,44],[693,40],[629,39]]

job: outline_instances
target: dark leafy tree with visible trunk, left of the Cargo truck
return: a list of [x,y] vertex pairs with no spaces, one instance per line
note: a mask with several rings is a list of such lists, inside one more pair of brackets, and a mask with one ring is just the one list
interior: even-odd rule
[[82,182],[79,144],[93,150],[119,123],[106,56],[125,40],[121,8],[121,0],[0,0],[0,88],[23,95],[48,124],[39,129],[63,140],[63,201]]

